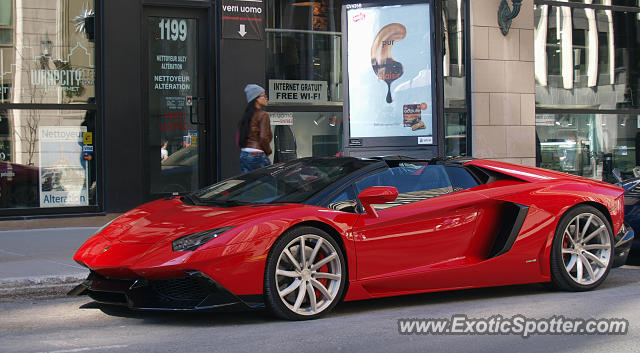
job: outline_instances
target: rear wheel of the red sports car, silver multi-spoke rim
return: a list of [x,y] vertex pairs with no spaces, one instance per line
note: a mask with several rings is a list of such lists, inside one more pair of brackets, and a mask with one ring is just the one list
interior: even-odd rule
[[613,231],[596,208],[578,206],[560,222],[551,248],[552,283],[567,291],[596,288],[613,263]]

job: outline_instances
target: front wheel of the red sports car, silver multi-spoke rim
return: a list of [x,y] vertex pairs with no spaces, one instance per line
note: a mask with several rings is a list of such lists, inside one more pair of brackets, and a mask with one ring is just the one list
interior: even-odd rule
[[344,255],[335,239],[317,228],[295,228],[269,252],[265,302],[279,317],[315,319],[340,301],[346,280]]

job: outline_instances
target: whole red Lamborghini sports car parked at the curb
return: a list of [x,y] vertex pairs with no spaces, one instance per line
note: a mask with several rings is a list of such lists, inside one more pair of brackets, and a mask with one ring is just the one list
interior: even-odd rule
[[76,253],[91,273],[70,294],[301,320],[341,300],[534,282],[584,291],[624,262],[622,197],[480,159],[299,159],[123,214]]

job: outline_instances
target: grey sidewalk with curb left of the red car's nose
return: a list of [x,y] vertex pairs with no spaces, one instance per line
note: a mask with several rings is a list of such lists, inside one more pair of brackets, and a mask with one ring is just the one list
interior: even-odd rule
[[65,295],[89,273],[73,254],[116,216],[0,221],[0,301]]

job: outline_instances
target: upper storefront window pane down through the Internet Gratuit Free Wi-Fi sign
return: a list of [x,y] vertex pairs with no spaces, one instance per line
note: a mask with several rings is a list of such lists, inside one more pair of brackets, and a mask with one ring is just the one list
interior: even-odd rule
[[271,104],[342,102],[339,0],[267,4],[267,84]]

